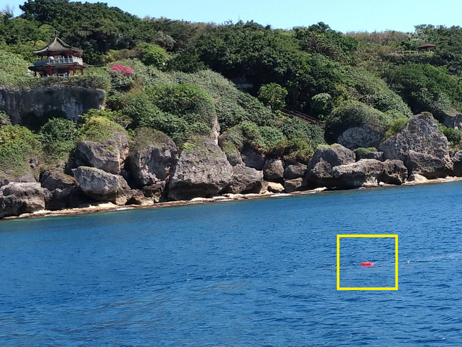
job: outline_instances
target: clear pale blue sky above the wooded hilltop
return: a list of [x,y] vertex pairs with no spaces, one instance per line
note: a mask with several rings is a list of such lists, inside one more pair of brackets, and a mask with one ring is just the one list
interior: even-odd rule
[[[104,0],[102,0],[104,1]],[[97,1],[90,1],[97,2]],[[461,0],[106,0],[140,17],[222,23],[254,19],[274,28],[324,22],[338,31],[413,31],[418,24],[462,25]],[[15,6],[24,0],[0,0]]]

